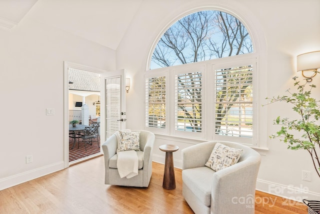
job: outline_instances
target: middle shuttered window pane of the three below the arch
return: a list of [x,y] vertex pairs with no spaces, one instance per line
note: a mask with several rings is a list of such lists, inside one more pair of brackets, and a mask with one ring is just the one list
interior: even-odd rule
[[175,130],[201,132],[201,72],[175,76]]

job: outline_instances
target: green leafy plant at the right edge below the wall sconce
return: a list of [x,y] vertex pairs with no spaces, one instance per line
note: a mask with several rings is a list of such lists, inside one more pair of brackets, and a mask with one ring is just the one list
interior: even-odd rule
[[[280,138],[280,141],[288,144],[288,149],[306,150],[320,178],[320,160],[318,156],[320,154],[320,125],[318,125],[320,124],[318,121],[320,118],[320,101],[311,97],[311,90],[315,88],[315,85],[308,85],[309,89],[307,90],[307,82],[300,84],[297,81],[297,77],[293,77],[292,79],[294,80],[294,87],[297,88],[297,93],[291,93],[290,89],[288,89],[286,92],[289,93],[289,96],[277,96],[266,99],[269,100],[268,104],[275,102],[292,104],[292,110],[299,114],[299,119],[291,120],[278,116],[273,120],[273,124],[280,125],[281,128],[275,134],[272,134],[270,138]],[[295,136],[291,133],[293,131],[298,131],[301,133],[301,136]]]

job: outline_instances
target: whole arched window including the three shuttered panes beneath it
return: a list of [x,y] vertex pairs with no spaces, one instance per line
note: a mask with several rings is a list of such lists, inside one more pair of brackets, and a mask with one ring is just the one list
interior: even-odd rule
[[221,11],[183,17],[161,36],[145,74],[145,127],[256,144],[256,58],[245,26]]

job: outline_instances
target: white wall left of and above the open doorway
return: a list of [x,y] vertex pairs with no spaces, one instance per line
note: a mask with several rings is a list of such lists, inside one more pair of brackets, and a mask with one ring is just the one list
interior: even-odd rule
[[[0,29],[0,47],[0,112],[9,112],[1,115],[3,189],[63,168],[63,61],[114,70],[115,51],[27,16]],[[55,114],[46,116],[46,108]]]

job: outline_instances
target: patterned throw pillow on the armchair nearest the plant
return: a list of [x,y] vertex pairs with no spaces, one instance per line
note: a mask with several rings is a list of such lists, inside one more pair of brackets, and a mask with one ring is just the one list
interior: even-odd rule
[[238,162],[242,149],[235,149],[216,143],[205,166],[219,171]]

